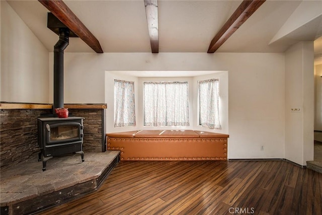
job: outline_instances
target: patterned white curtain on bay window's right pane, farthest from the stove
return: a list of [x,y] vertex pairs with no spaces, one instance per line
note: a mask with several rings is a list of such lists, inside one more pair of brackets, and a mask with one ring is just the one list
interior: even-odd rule
[[198,82],[199,124],[210,129],[221,129],[219,120],[219,79]]

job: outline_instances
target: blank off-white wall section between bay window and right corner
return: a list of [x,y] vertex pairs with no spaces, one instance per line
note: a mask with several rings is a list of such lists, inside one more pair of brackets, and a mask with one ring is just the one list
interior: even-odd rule
[[228,158],[284,158],[284,55],[230,53],[218,62],[229,74]]

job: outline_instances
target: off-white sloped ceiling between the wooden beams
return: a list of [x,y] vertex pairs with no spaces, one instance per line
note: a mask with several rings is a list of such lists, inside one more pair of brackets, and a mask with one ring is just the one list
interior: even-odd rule
[[[306,1],[311,4],[313,1]],[[322,1],[318,1],[321,3]],[[38,1],[8,1],[48,51],[58,36],[47,28],[48,10]],[[104,52],[150,52],[143,0],[64,1],[100,42]],[[207,52],[210,41],[241,1],[158,0],[159,52]],[[271,40],[301,1],[266,1],[217,52],[284,52],[299,40],[321,36],[322,16]],[[320,41],[320,40],[319,40]],[[322,53],[321,42],[315,55]],[[79,38],[70,38],[65,52],[94,52]]]

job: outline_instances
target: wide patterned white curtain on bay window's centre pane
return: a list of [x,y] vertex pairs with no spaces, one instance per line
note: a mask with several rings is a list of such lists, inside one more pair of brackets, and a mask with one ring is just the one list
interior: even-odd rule
[[189,126],[187,82],[144,82],[144,126]]

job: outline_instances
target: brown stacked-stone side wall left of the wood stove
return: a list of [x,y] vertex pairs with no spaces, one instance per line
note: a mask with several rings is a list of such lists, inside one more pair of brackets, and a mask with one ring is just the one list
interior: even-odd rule
[[38,159],[37,116],[43,109],[0,110],[1,170]]

